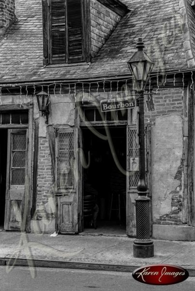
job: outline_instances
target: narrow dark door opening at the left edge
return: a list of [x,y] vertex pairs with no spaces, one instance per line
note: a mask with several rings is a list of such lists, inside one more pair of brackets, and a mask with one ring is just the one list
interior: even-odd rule
[[0,129],[0,228],[4,227],[7,171],[7,129]]

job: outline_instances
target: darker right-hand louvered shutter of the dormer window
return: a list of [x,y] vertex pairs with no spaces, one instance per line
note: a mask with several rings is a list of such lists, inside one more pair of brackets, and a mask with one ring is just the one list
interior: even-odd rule
[[67,0],[68,61],[83,61],[82,1]]

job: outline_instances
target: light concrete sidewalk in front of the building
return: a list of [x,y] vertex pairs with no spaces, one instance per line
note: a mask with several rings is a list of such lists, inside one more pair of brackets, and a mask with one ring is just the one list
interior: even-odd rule
[[0,265],[133,272],[148,264],[173,264],[195,276],[195,242],[154,240],[154,257],[133,257],[135,239],[115,236],[26,234],[0,231]]

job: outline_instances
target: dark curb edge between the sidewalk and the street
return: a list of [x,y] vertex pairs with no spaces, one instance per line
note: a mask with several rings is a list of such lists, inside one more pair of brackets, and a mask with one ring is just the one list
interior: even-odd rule
[[[63,268],[63,269],[85,269],[94,271],[116,271],[132,273],[141,266],[99,264],[87,262],[56,261],[44,259],[13,259],[11,257],[0,258],[2,266],[21,266],[21,267],[44,267],[44,268]],[[195,277],[195,269],[190,269],[180,265],[189,272],[190,277]]]

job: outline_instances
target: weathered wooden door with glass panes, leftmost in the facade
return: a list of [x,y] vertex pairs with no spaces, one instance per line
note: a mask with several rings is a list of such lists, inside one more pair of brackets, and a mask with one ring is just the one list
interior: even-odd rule
[[5,223],[6,230],[20,230],[25,198],[27,172],[27,129],[8,129],[7,180]]

